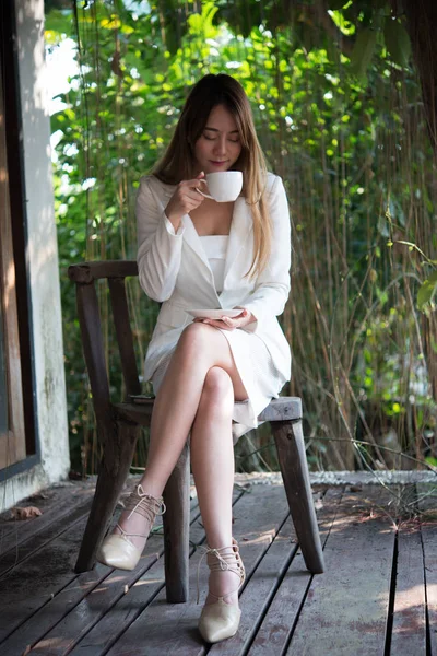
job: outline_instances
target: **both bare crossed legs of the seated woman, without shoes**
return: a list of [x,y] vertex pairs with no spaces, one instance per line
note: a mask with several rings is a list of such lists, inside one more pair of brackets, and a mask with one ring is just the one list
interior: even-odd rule
[[[232,543],[232,412],[234,400],[246,398],[225,336],[205,324],[188,326],[156,395],[141,484],[147,494],[162,495],[191,431],[192,472],[208,544],[212,548]],[[142,517],[133,514],[128,519],[128,515],[121,514],[120,526],[128,534],[141,535]],[[142,549],[144,539],[131,541]],[[210,577],[210,589],[217,596],[235,589],[235,575],[226,574]]]

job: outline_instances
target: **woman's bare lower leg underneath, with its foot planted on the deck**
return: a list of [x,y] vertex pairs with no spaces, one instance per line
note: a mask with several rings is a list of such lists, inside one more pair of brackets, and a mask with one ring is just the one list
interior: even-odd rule
[[[234,387],[229,375],[214,366],[206,374],[198,413],[191,429],[191,467],[200,512],[211,548],[232,544],[232,493],[234,488],[234,446],[232,413]],[[206,604],[216,601],[238,587],[232,572],[212,572]],[[237,594],[226,601],[236,602]]]

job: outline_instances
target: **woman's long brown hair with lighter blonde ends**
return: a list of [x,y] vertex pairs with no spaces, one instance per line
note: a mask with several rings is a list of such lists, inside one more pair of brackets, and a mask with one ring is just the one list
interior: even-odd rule
[[177,185],[198,175],[194,144],[201,137],[211,110],[224,105],[233,115],[241,153],[233,169],[243,172],[243,194],[253,219],[253,259],[246,276],[256,278],[265,268],[271,253],[272,224],[267,202],[267,165],[255,130],[249,99],[231,75],[208,74],[192,87],[173,139],[152,173],[161,181]]

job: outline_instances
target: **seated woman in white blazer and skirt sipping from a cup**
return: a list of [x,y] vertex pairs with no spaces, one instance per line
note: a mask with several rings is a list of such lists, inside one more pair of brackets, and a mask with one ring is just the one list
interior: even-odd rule
[[[200,191],[205,174],[241,171],[235,202]],[[290,379],[277,323],[290,291],[290,219],[281,178],[268,174],[249,101],[236,80],[205,75],[137,203],[139,278],[162,302],[145,360],[154,403],[145,473],[99,560],[133,569],[162,493],[190,434],[191,467],[208,540],[209,595],[199,629],[208,642],[234,635],[244,566],[232,537],[234,435]],[[192,308],[240,308],[234,318],[192,320]]]

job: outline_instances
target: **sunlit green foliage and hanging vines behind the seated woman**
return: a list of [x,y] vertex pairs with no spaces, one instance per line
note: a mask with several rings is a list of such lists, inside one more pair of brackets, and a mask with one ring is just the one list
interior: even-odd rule
[[[78,3],[80,68],[51,119],[75,467],[82,459],[92,470],[96,449],[66,269],[83,259],[135,257],[139,179],[163,154],[189,87],[206,72],[241,82],[271,168],[288,191],[294,292],[282,321],[296,363],[291,391],[307,400],[311,462],[350,466],[351,452],[328,448],[318,436],[347,440],[358,418],[363,425],[378,418],[375,435],[394,427],[408,452],[421,442],[417,431],[436,430],[423,366],[430,355],[417,329],[423,319],[425,336],[432,333],[435,315],[417,317],[414,303],[418,292],[418,307],[429,308],[436,292],[421,256],[428,254],[429,267],[437,250],[435,186],[410,42],[386,2],[327,4],[320,22],[316,1],[220,0],[201,11],[177,0]],[[78,38],[69,10],[50,11],[46,30],[49,48]],[[106,326],[106,290],[99,294]],[[157,307],[135,285],[129,300],[141,365]],[[122,398],[109,328],[106,348],[113,390]],[[262,466],[275,466],[260,448]]]

